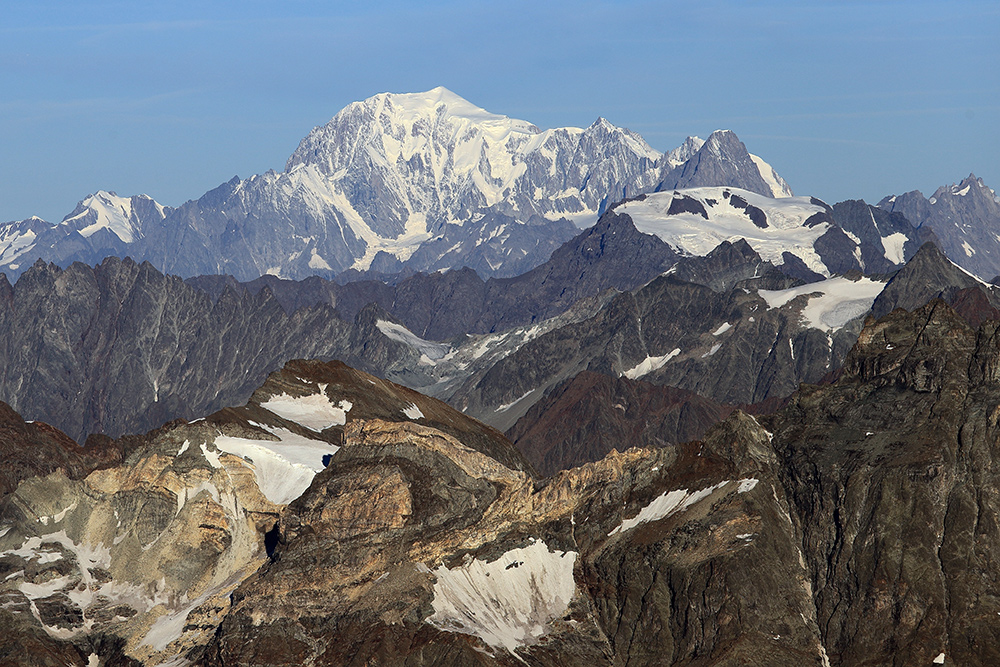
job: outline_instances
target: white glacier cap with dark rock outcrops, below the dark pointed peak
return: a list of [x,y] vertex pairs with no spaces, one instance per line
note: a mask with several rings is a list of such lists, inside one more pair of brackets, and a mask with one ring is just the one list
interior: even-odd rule
[[723,241],[742,238],[775,266],[796,264],[791,273],[806,273],[802,277],[861,268],[859,241],[844,233],[831,209],[813,197],[690,188],[644,195],[616,206],[615,212],[628,215],[640,232],[659,237],[683,255],[707,255]]

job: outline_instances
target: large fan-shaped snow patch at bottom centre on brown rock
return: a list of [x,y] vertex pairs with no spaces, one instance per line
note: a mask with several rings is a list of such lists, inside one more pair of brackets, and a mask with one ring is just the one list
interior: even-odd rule
[[566,613],[576,592],[576,557],[536,540],[492,562],[476,558],[453,570],[442,565],[433,571],[434,614],[427,622],[516,655]]

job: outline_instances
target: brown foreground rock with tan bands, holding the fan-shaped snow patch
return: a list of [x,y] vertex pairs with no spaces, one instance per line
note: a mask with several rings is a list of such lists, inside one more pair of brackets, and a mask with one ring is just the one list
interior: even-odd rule
[[[766,447],[756,422],[733,419],[721,438]],[[733,466],[714,446],[613,452],[536,490],[440,432],[356,422],[282,522],[276,559],[235,593],[207,662],[821,665],[773,457],[744,450]],[[753,574],[713,578],[722,563]]]

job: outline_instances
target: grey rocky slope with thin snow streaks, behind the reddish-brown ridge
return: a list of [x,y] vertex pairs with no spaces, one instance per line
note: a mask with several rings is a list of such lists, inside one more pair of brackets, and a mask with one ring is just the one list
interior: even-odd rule
[[[775,285],[767,272],[761,286]],[[641,378],[719,403],[750,404],[791,394],[836,369],[861,327],[858,317],[829,331],[806,326],[809,290],[770,308],[753,281],[726,292],[667,275],[617,296],[592,318],[535,338],[477,372],[450,399],[508,429],[556,384],[584,370]]]

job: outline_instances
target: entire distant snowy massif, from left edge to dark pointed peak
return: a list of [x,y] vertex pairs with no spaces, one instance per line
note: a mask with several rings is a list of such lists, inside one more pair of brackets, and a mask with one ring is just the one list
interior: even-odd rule
[[709,185],[791,194],[729,131],[664,154],[603,118],[540,130],[444,88],[382,93],[315,128],[284,171],[234,178],[176,210],[99,192],[52,234],[39,222],[0,227],[0,270],[128,254],[181,276],[242,280],[330,277],[376,258],[503,277],[544,262],[612,203]]

